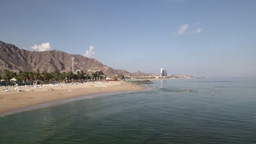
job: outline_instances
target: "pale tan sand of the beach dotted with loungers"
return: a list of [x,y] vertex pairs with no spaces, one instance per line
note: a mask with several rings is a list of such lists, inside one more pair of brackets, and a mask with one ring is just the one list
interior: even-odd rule
[[9,87],[9,92],[4,92],[3,89],[4,87],[1,87],[0,114],[63,99],[111,92],[143,91],[146,88],[128,82],[113,81],[63,86],[43,85],[37,88],[24,86],[21,87],[22,92],[15,91],[15,87]]

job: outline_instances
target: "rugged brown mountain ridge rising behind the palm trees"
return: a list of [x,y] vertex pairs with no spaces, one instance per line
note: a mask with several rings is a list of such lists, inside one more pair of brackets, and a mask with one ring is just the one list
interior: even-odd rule
[[98,62],[96,59],[82,55],[71,55],[59,50],[53,51],[27,51],[19,49],[13,44],[6,44],[0,41],[0,73],[4,69],[11,71],[53,71],[55,68],[60,71],[72,70],[72,57],[74,57],[74,70],[89,71],[101,69],[104,74],[113,76],[117,74],[131,75],[126,70],[113,69]]

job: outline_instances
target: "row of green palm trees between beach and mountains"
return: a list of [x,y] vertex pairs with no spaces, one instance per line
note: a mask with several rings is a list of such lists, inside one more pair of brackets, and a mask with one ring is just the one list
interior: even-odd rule
[[100,75],[98,73],[85,74],[83,71],[77,71],[76,73],[73,73],[72,71],[69,71],[68,73],[66,72],[61,73],[57,69],[55,69],[54,71],[51,71],[50,73],[47,73],[46,71],[40,72],[39,69],[37,69],[35,72],[19,71],[18,73],[16,71],[4,70],[2,75],[0,75],[0,78],[5,82],[9,82],[11,79],[15,78],[19,83],[21,82],[33,83],[34,81],[50,83],[50,82],[61,82],[64,80],[65,81],[102,80],[102,79],[106,79],[106,76]]

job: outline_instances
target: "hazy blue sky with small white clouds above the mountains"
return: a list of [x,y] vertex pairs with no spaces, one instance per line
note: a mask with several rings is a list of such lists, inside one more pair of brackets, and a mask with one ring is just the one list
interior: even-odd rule
[[0,40],[130,72],[256,76],[256,1],[1,0]]

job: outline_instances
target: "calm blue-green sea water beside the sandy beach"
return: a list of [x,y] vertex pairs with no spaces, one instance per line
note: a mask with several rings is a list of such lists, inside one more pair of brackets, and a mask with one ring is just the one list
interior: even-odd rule
[[0,117],[0,143],[256,143],[255,77],[153,82]]

